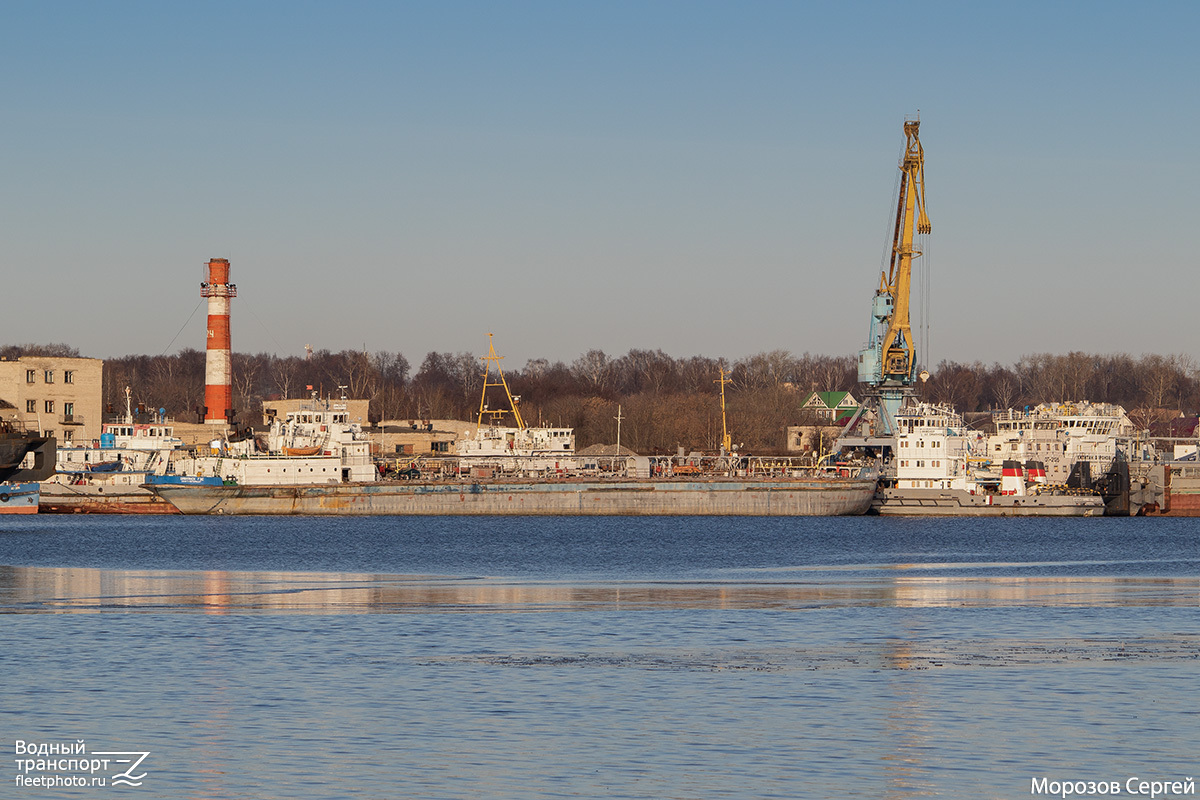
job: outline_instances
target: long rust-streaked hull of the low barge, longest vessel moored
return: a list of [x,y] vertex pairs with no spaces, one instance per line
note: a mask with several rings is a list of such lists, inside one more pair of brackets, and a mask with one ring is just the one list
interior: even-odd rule
[[866,513],[875,481],[158,485],[152,491],[187,515],[796,517]]

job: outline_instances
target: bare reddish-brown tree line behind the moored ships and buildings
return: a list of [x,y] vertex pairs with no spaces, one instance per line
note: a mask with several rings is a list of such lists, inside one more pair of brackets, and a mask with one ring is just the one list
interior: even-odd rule
[[[65,344],[0,347],[0,356],[78,356]],[[203,350],[173,355],[130,355],[104,362],[103,402],[163,408],[176,420],[196,421],[204,405]],[[520,398],[528,425],[575,428],[580,447],[612,444],[618,409],[622,444],[638,452],[714,450],[721,439],[721,371],[730,433],[745,451],[779,451],[787,426],[811,425],[802,408],[811,391],[851,391],[863,396],[851,356],[758,353],[736,361],[707,356],[674,357],[662,350],[632,349],[620,356],[588,350],[571,362],[534,359],[505,378]],[[1128,410],[1200,408],[1196,363],[1184,355],[1034,354],[1016,363],[942,361],[918,386],[925,399],[964,413],[1024,408],[1043,402],[1108,402]],[[494,380],[494,378],[493,378]],[[318,350],[307,357],[269,353],[233,354],[234,405],[240,423],[257,425],[264,399],[347,397],[370,401],[372,422],[436,419],[473,420],[484,386],[482,362],[472,353],[430,353],[415,373],[401,353]],[[488,405],[506,404],[491,390]],[[1136,417],[1135,417],[1136,419]],[[1146,422],[1150,422],[1148,416]]]

